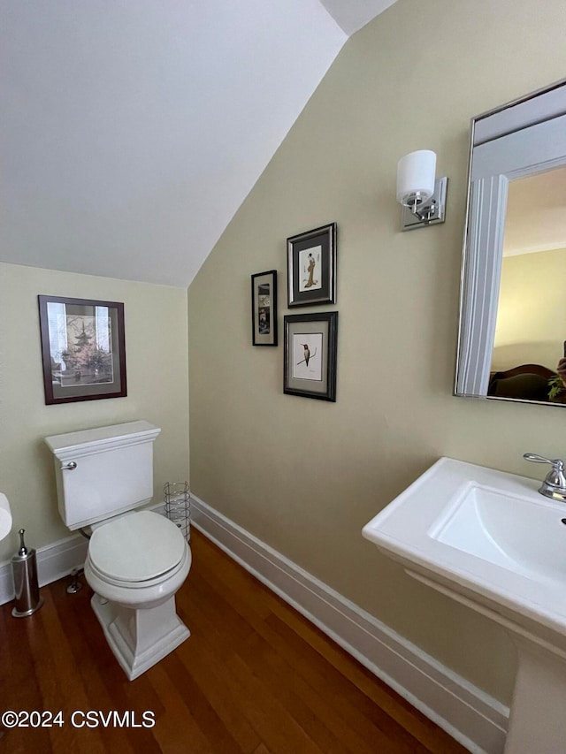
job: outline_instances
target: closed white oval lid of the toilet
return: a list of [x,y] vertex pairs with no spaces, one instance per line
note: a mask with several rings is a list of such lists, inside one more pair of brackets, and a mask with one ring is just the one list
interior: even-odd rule
[[95,529],[88,556],[111,579],[142,582],[174,568],[186,548],[185,537],[174,523],[152,511],[139,511]]

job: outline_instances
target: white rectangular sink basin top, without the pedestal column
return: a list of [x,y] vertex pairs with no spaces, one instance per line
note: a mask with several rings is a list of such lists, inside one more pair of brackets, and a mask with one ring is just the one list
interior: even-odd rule
[[441,458],[363,527],[411,575],[477,600],[566,652],[566,504],[540,482]]

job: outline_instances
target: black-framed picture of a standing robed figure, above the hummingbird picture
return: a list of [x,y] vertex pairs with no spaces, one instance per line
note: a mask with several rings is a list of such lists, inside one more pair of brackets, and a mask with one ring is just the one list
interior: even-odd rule
[[289,307],[336,303],[336,223],[287,239]]

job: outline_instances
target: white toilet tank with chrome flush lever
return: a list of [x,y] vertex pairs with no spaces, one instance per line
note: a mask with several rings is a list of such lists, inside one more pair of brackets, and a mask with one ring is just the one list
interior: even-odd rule
[[149,503],[160,431],[130,422],[45,438],[54,454],[59,514],[69,529]]

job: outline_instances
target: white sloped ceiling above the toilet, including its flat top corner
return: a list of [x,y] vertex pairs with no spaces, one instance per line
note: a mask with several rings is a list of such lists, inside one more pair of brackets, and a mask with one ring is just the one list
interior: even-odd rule
[[394,0],[0,0],[0,261],[188,286]]

